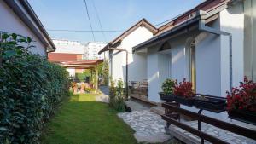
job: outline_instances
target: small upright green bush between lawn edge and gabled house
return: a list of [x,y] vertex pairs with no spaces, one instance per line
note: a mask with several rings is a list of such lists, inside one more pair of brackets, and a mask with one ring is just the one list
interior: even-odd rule
[[117,87],[114,87],[114,83],[111,82],[109,105],[119,112],[125,112],[125,89],[122,80],[118,80]]

